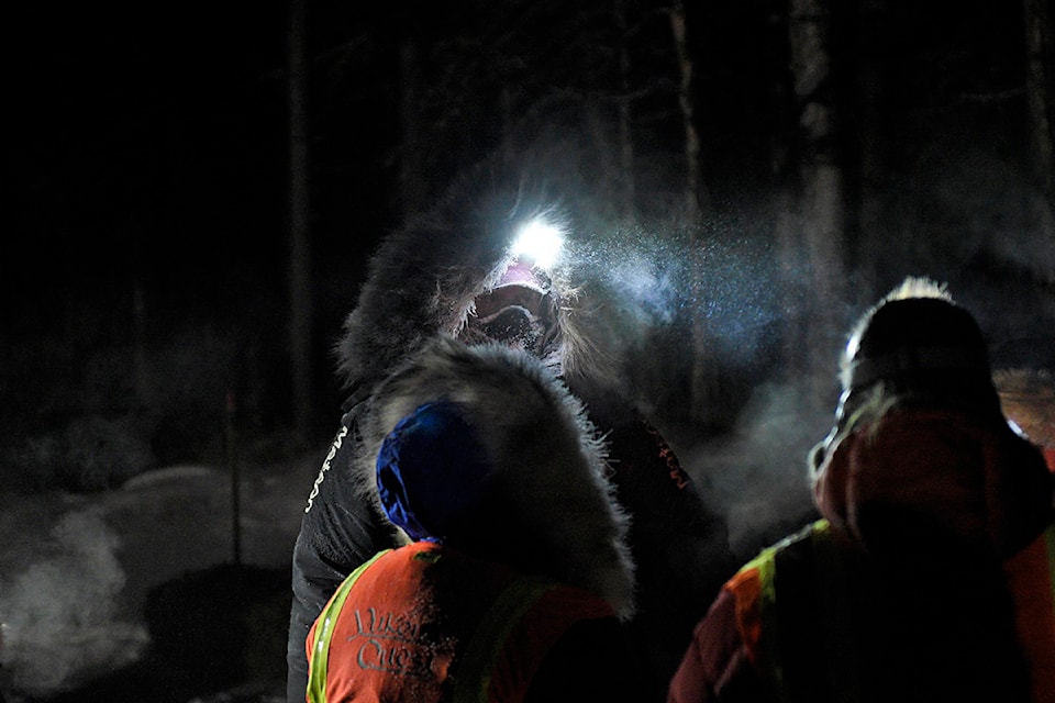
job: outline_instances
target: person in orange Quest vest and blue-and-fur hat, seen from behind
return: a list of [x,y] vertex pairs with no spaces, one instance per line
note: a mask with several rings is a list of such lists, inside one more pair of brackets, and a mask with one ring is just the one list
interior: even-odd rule
[[628,521],[581,404],[534,356],[438,339],[371,406],[354,469],[401,546],[316,618],[308,700],[643,700]]

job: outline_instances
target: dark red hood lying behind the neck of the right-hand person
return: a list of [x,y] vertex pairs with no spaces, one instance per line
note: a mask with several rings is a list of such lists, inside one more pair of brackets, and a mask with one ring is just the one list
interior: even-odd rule
[[959,545],[1006,559],[1053,518],[1052,477],[1001,420],[893,410],[829,448],[817,505],[871,551]]

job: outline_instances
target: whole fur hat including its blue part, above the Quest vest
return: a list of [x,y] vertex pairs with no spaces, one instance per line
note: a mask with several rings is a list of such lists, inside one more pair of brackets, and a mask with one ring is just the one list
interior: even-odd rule
[[591,590],[632,613],[628,517],[604,446],[538,359],[440,337],[369,402],[354,470],[403,533]]

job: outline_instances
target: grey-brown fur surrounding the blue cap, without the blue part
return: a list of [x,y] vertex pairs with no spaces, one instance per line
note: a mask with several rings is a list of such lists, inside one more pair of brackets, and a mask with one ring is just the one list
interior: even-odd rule
[[[449,546],[588,589],[629,617],[634,576],[628,518],[607,478],[603,444],[581,403],[526,353],[440,337],[377,387],[363,415],[354,470],[380,514],[381,446],[400,421],[432,403],[458,409],[479,444],[473,461],[486,467],[466,479],[465,493],[480,499],[455,501],[467,514],[458,515],[462,528]],[[415,461],[419,476],[433,467],[427,455]],[[422,483],[437,484],[434,477]],[[457,492],[419,493],[426,494],[411,498],[422,505]]]

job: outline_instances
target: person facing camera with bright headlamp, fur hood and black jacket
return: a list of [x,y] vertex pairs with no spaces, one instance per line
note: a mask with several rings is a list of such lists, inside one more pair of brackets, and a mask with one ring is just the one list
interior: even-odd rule
[[[530,353],[585,403],[606,436],[617,498],[631,516],[637,563],[631,623],[655,698],[677,667],[702,607],[735,568],[724,523],[710,511],[674,451],[619,391],[599,303],[584,291],[581,249],[545,264],[517,249],[522,227],[570,219],[535,181],[481,167],[435,210],[386,237],[374,254],[337,347],[348,389],[341,428],[308,498],[292,560],[288,643],[290,703],[303,700],[308,628],[337,585],[392,545],[377,507],[360,500],[349,469],[364,453],[369,398],[407,358],[436,337],[498,342]],[[581,236],[581,235],[580,235]],[[576,247],[580,250],[576,250]],[[498,422],[496,417],[493,422]]]

